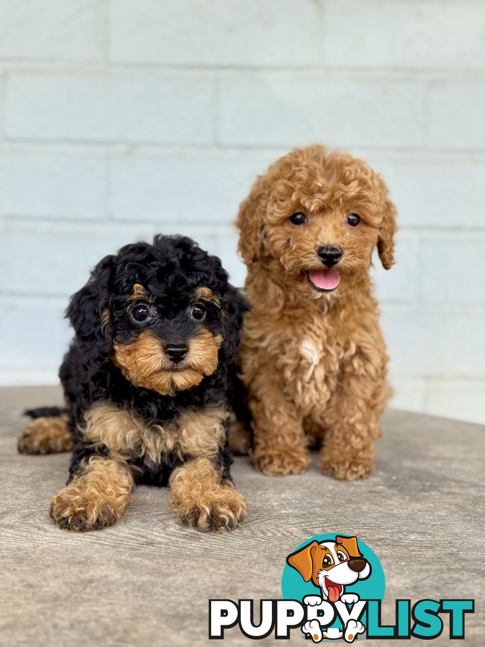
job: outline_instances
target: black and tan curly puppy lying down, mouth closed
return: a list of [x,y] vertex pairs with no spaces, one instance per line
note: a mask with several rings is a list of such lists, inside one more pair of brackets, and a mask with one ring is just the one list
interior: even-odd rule
[[171,507],[199,530],[239,525],[246,503],[227,431],[243,312],[221,261],[189,238],[156,236],[98,264],[67,310],[67,413],[30,412],[19,440],[27,454],[74,446],[67,487],[50,503],[59,526],[115,523],[135,483],[169,484]]

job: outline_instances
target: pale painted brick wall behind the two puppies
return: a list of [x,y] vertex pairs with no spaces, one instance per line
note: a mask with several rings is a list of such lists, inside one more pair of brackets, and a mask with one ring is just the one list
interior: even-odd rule
[[0,383],[56,380],[69,295],[232,222],[288,149],[348,148],[398,206],[376,261],[394,404],[485,422],[482,0],[0,0]]

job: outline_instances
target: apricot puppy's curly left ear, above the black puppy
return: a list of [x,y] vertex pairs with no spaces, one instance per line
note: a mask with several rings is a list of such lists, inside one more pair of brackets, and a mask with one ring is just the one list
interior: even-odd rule
[[260,175],[248,197],[242,201],[236,220],[241,231],[237,248],[248,266],[258,261],[261,252],[266,200],[266,177]]

